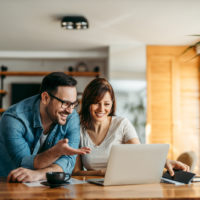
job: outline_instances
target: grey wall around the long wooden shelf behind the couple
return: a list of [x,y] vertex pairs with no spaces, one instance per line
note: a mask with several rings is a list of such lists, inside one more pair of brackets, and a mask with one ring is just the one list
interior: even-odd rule
[[[0,53],[0,55],[2,55]],[[88,53],[89,55],[89,53]],[[89,71],[93,71],[95,66],[100,67],[100,72],[102,77],[107,77],[107,58],[105,54],[97,54],[95,56],[82,56],[77,54],[76,56],[56,57],[56,58],[38,58],[38,56],[26,57],[26,53],[20,56],[10,55],[8,58],[0,58],[0,65],[8,67],[8,71],[68,71],[69,66],[74,68],[79,62],[84,62],[88,66]],[[4,55],[5,57],[5,55]],[[53,57],[53,56],[52,56]],[[80,58],[83,57],[83,58]],[[11,84],[12,83],[40,83],[43,77],[16,77],[7,76],[4,79],[4,89],[8,92],[3,98],[3,108],[8,108],[11,102]],[[75,77],[78,80],[77,90],[78,92],[83,92],[85,86],[95,77]]]

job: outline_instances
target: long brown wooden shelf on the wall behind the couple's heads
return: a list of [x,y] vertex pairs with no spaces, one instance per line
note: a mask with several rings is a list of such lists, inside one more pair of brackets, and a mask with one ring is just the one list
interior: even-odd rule
[[[4,71],[0,72],[0,76],[45,76],[51,72],[13,72],[13,71]],[[97,77],[100,75],[100,72],[64,72],[70,76],[89,76],[89,77]]]

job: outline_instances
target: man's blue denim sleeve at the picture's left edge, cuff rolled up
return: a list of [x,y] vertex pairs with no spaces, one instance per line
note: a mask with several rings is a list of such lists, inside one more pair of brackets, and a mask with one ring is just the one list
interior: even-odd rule
[[4,115],[1,129],[8,155],[16,168],[33,169],[35,155],[31,155],[30,147],[24,137],[26,134],[24,123],[12,115]]

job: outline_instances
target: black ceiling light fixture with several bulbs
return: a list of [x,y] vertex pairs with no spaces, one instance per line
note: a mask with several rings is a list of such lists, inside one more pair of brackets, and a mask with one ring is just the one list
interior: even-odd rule
[[83,16],[65,16],[62,18],[61,26],[63,28],[72,29],[88,29],[88,20]]

